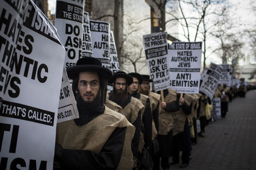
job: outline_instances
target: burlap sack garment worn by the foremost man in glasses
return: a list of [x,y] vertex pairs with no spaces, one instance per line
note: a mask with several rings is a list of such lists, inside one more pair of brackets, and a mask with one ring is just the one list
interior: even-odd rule
[[134,136],[135,127],[125,119],[125,116],[107,107],[102,115],[84,126],[77,126],[74,120],[58,123],[56,142],[65,149],[91,150],[99,154],[116,127],[127,127],[122,156],[117,169],[131,170],[134,163],[131,139]]

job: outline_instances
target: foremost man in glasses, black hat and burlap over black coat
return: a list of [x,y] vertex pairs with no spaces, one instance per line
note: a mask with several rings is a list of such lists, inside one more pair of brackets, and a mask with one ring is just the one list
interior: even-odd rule
[[107,79],[112,72],[99,59],[82,57],[67,69],[78,92],[79,118],[58,123],[55,161],[61,169],[131,170],[134,126],[104,105]]

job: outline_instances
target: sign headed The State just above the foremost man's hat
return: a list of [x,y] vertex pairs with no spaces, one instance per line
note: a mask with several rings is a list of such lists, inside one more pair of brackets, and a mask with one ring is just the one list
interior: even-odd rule
[[110,69],[110,23],[90,20],[90,33],[93,45],[93,57]]

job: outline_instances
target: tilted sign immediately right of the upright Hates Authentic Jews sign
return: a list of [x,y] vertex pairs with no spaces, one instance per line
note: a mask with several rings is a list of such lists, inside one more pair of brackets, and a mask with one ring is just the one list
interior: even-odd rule
[[221,67],[211,62],[200,86],[200,91],[212,99],[221,76]]

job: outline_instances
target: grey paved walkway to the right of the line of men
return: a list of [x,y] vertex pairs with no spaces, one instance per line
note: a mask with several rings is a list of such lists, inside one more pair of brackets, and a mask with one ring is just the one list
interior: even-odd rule
[[[256,91],[229,102],[226,118],[209,124],[203,134],[192,145],[192,160],[183,169],[256,170]],[[169,170],[181,170],[179,165]]]

